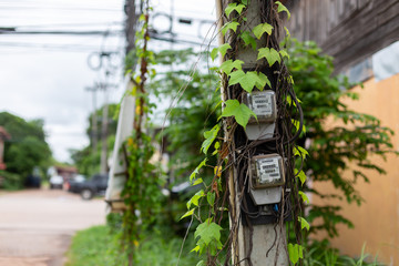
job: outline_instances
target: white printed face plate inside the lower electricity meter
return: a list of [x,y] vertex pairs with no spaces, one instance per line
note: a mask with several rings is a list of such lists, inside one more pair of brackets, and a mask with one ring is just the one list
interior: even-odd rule
[[260,184],[274,183],[282,178],[278,158],[259,158],[256,162]]

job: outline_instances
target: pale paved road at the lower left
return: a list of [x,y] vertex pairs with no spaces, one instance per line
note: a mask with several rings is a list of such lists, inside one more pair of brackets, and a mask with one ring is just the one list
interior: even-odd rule
[[0,192],[0,266],[62,266],[71,236],[104,223],[101,200],[63,191]]

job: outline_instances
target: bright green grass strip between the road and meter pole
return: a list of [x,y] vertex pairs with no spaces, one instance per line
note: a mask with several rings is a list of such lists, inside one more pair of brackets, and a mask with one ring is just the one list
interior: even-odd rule
[[[137,248],[135,265],[141,266],[174,266],[177,265],[182,239],[178,237],[162,238],[151,234]],[[187,244],[187,246],[190,246]],[[66,253],[65,266],[123,266],[126,265],[119,248],[116,234],[110,233],[105,225],[80,231],[72,239]],[[180,266],[196,265],[200,259],[194,253],[184,250]]]

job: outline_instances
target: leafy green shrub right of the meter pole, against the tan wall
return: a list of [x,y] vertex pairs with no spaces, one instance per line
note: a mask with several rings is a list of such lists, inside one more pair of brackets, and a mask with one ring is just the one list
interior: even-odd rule
[[[288,68],[295,80],[296,94],[303,102],[304,124],[307,126],[307,133],[298,144],[305,146],[307,140],[310,143],[304,165],[314,183],[309,191],[323,198],[345,198],[348,203],[361,204],[362,197],[355,184],[358,178],[369,181],[365,170],[385,173],[370,156],[385,157],[390,152],[392,131],[372,115],[348,109],[344,99],[354,99],[349,89],[351,84],[346,78],[332,75],[332,59],[321,54],[316,43],[293,40],[288,51],[291,58]],[[335,122],[330,123],[332,120]],[[305,154],[303,150],[295,152]],[[354,165],[356,170],[351,170]],[[351,178],[349,173],[352,173]],[[305,180],[304,175],[299,173],[298,177]],[[332,184],[336,191],[321,194],[317,191],[317,184],[321,182]],[[313,226],[310,232],[324,229],[334,237],[338,235],[337,224],[351,227],[352,224],[339,215],[339,209],[337,205],[311,206],[308,221],[321,218],[323,223]]]

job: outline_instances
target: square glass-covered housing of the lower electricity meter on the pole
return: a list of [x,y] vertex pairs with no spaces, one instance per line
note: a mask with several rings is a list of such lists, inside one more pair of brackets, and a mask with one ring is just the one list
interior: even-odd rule
[[254,190],[284,185],[284,162],[278,154],[250,158],[250,186]]

